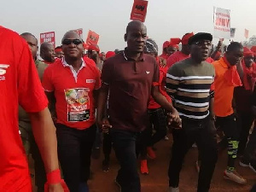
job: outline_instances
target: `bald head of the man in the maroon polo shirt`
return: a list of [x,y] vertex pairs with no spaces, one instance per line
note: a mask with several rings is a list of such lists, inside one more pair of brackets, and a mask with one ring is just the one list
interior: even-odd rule
[[147,38],[147,28],[140,20],[132,20],[126,27],[125,41],[127,49],[132,53],[143,53]]

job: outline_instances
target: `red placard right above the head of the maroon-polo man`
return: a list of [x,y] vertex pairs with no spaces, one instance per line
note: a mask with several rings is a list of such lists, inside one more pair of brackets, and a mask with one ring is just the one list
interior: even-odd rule
[[131,9],[131,20],[141,20],[145,21],[147,15],[148,1],[144,0],[134,0]]

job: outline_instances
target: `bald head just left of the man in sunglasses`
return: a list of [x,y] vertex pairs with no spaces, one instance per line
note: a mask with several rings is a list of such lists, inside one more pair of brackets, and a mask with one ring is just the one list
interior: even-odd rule
[[55,61],[55,49],[52,44],[44,42],[40,46],[40,56],[44,61],[54,62]]

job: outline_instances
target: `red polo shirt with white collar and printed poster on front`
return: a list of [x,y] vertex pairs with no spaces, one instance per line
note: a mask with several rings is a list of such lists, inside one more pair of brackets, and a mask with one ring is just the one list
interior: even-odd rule
[[54,91],[57,123],[83,130],[95,123],[93,90],[101,87],[101,74],[90,59],[84,57],[76,73],[64,58],[44,71],[45,91]]

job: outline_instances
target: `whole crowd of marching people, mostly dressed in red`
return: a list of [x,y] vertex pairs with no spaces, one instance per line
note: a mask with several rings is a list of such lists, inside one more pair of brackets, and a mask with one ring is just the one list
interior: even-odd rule
[[137,162],[148,174],[147,159],[156,158],[154,144],[168,129],[168,192],[179,191],[193,144],[198,192],[209,191],[219,150],[227,148],[224,179],[247,183],[236,172],[237,157],[256,172],[255,129],[249,134],[256,115],[256,47],[231,42],[224,48],[221,41],[213,47],[212,34],[188,32],[166,41],[160,55],[138,20],[126,27],[126,48],[106,54],[93,44],[84,49],[73,31],[61,46],[41,44],[39,55],[32,33],[19,36],[1,26],[0,37],[1,192],[32,191],[29,154],[38,192],[88,192],[90,158],[101,145],[102,171],[109,171],[113,148],[120,166],[115,183],[122,192],[140,192]]

